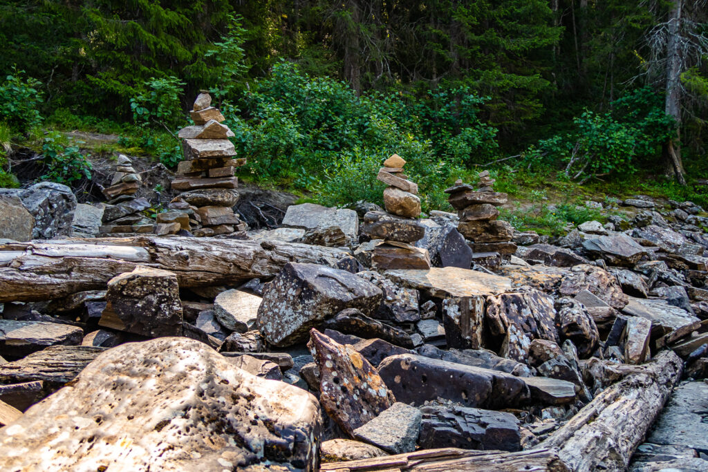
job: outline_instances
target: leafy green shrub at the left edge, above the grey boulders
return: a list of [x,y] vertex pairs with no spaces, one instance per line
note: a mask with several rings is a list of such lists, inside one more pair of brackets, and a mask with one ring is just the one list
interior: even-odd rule
[[0,85],[0,121],[21,133],[39,125],[42,122],[39,111],[42,93],[38,87],[41,85],[32,77],[25,78],[25,71],[13,68],[12,74],[8,74]]

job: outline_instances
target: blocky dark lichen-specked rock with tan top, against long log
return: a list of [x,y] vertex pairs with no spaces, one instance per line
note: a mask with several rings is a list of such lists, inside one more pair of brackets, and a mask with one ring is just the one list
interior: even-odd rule
[[98,323],[105,328],[153,338],[182,333],[182,303],[173,272],[137,266],[113,277],[105,297],[108,305]]

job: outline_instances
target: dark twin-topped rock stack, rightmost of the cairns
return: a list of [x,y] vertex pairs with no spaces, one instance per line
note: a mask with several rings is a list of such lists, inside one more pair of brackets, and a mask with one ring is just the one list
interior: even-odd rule
[[516,245],[511,241],[513,226],[498,220],[499,210],[508,199],[506,193],[494,192],[495,180],[489,177],[489,171],[479,173],[479,190],[457,180],[455,185],[445,190],[449,194],[450,205],[457,210],[459,224],[457,231],[469,241],[475,255],[479,253],[498,253],[508,256],[516,252]]

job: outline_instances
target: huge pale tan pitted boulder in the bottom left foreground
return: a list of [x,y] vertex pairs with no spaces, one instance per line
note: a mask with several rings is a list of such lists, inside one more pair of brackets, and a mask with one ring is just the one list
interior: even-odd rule
[[320,423],[310,393],[160,338],[104,352],[0,430],[0,457],[8,470],[314,471]]

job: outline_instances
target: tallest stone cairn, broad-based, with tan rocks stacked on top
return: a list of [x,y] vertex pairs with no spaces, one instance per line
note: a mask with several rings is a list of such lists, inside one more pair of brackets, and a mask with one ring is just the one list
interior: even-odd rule
[[233,159],[236,149],[229,137],[234,132],[222,125],[224,115],[211,103],[209,93],[200,93],[190,111],[195,125],[179,132],[184,161],[177,166],[180,176],[172,181],[172,188],[184,192],[170,202],[171,212],[158,215],[159,223],[171,224],[164,227],[164,234],[184,229],[194,236],[216,236],[247,228],[234,214],[239,194],[232,190],[238,186],[236,167],[246,159]]

